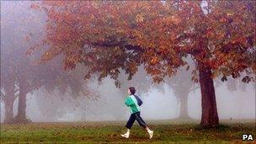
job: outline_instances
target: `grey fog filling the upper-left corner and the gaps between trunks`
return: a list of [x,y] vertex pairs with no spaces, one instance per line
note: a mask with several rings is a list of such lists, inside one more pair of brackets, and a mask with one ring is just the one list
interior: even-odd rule
[[[33,10],[29,8],[29,3],[1,1],[1,75],[8,73],[7,69],[2,67],[2,63],[8,61],[10,53],[12,53],[13,60],[19,61],[20,56],[26,57],[25,52],[28,45],[40,39],[36,37],[35,40],[25,44],[23,41],[24,36],[29,32],[42,31],[41,24],[44,23],[44,15],[31,12]],[[7,13],[12,14],[8,15]],[[33,16],[37,19],[29,21],[28,24],[25,23],[25,19],[35,18]],[[23,52],[15,52],[20,50]],[[25,62],[27,61],[24,61],[24,66],[27,65]],[[78,72],[80,75],[84,74],[83,71]],[[53,88],[51,93],[49,90],[45,90],[45,86],[35,89],[26,97],[27,118],[33,122],[127,120],[130,113],[124,100],[130,86],[135,86],[136,94],[143,101],[141,115],[145,120],[170,120],[179,117],[180,102],[169,83],[152,83],[151,77],[142,68],[139,68],[138,74],[131,81],[126,80],[128,76],[125,76],[124,73],[121,74],[121,88],[116,88],[115,81],[110,77],[104,78],[101,83],[95,79],[85,82],[86,80],[80,77],[83,85],[99,95],[96,99],[93,98],[93,94],[80,94],[81,96],[76,97],[76,95],[72,95],[74,93],[61,93],[59,88]],[[190,73],[187,72],[187,75]],[[179,74],[175,77],[179,77]],[[217,77],[216,83],[220,79]],[[184,81],[191,80],[189,78]],[[229,89],[228,82],[235,83],[236,88]],[[4,83],[5,81],[1,80],[1,85]],[[18,100],[15,99],[13,104],[13,116],[18,113]],[[221,120],[255,119],[255,101],[255,83],[242,83],[241,78],[237,80],[229,78],[227,82],[221,82],[221,85],[216,86],[216,104]],[[197,88],[190,92],[188,97],[187,105],[190,118],[200,120],[200,102],[200,88]],[[1,122],[5,119],[5,108],[5,104],[1,101]]]

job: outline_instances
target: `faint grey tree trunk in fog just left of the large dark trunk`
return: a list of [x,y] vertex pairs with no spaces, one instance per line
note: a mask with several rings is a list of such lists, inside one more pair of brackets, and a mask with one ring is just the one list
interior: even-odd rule
[[190,118],[188,113],[188,97],[189,97],[189,93],[184,93],[184,95],[179,96],[179,99],[180,99],[179,119]]

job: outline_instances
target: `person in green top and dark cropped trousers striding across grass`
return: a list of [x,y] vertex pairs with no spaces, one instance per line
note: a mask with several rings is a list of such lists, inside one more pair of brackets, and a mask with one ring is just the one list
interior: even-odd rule
[[137,120],[139,125],[141,125],[141,127],[145,128],[147,130],[147,132],[149,134],[149,138],[151,139],[153,136],[153,131],[151,131],[149,129],[146,122],[141,118],[140,107],[138,105],[136,97],[134,96],[135,92],[136,92],[136,90],[133,87],[130,87],[128,89],[129,96],[125,99],[125,105],[129,107],[129,109],[131,111],[131,115],[125,125],[125,127],[127,128],[127,132],[121,136],[123,136],[125,138],[129,138],[131,126],[133,125],[134,121]]

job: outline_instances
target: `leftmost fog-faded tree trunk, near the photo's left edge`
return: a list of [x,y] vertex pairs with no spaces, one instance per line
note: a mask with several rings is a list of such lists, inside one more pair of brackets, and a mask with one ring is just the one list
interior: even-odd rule
[[4,109],[5,109],[5,113],[4,113],[4,123],[13,123],[13,103],[14,100],[13,99],[4,99]]

